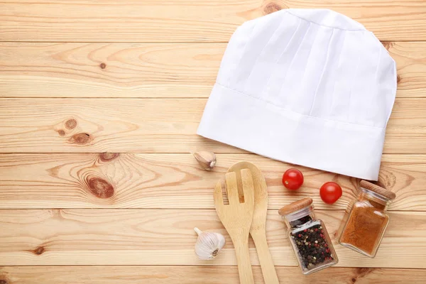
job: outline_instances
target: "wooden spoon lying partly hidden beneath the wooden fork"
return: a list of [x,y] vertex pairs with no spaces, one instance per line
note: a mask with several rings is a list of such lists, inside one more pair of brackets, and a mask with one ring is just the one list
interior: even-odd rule
[[[278,276],[273,266],[271,253],[269,252],[268,243],[266,242],[266,214],[268,212],[268,188],[265,178],[261,170],[256,165],[250,162],[242,161],[231,166],[229,173],[236,174],[237,183],[241,182],[239,173],[244,169],[251,171],[254,188],[254,212],[253,221],[251,222],[250,234],[256,245],[259,262],[261,263],[263,280],[266,284],[275,284],[278,282]],[[226,174],[226,175],[228,175]],[[241,185],[238,185],[241,188]],[[240,192],[241,194],[241,192]]]

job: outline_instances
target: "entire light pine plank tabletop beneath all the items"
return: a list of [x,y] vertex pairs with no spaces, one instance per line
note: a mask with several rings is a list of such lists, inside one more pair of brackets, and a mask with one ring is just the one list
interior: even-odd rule
[[[231,33],[289,7],[345,13],[398,65],[380,174],[397,199],[381,248],[366,258],[336,244],[337,267],[310,276],[277,209],[312,197],[335,241],[356,180],[300,167],[305,184],[288,192],[290,165],[195,134]],[[214,171],[197,150],[217,153]],[[424,283],[426,1],[0,1],[0,284],[239,283],[212,198],[239,160],[266,176],[280,283]],[[329,180],[344,187],[332,206],[318,195]],[[195,226],[226,236],[214,261],[195,256]]]

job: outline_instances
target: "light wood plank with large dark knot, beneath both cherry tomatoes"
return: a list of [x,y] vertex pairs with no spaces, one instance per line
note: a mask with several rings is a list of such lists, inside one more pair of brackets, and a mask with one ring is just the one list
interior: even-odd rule
[[[295,166],[259,155],[219,154],[217,167],[207,172],[190,154],[11,154],[0,155],[0,208],[214,209],[214,185],[239,160],[263,170],[269,209],[302,197],[312,197],[318,209],[346,209],[356,196],[355,179],[302,167],[297,167],[305,175],[302,188],[285,190],[281,176]],[[379,182],[397,195],[390,210],[426,211],[425,173],[426,155],[383,155]],[[330,180],[344,190],[333,205],[318,194]],[[111,187],[102,187],[107,184]]]

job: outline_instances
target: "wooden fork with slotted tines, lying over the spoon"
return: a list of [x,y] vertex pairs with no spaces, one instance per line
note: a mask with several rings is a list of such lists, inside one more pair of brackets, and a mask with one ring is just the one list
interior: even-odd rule
[[253,272],[251,271],[249,256],[249,231],[254,206],[253,179],[250,170],[241,170],[240,175],[244,202],[239,201],[236,174],[227,173],[225,180],[229,204],[224,204],[222,184],[219,181],[214,187],[214,207],[216,207],[219,219],[224,224],[234,244],[240,283],[253,284]]

